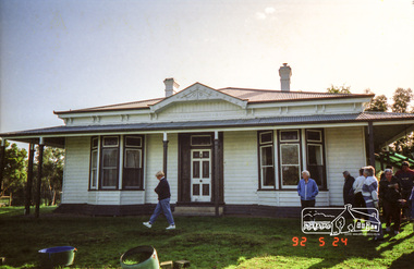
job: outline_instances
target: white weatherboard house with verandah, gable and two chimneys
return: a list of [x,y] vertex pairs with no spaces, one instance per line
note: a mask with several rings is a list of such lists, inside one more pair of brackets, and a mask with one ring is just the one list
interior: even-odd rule
[[65,148],[61,212],[150,213],[165,170],[183,215],[299,216],[302,170],[319,185],[316,206],[342,206],[344,170],[413,131],[414,114],[364,112],[373,95],[214,89],[200,83],[166,96],[54,112],[63,126],[0,137]]

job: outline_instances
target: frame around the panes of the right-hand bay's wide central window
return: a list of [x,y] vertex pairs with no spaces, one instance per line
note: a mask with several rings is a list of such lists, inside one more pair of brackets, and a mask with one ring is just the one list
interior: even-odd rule
[[[292,132],[296,131],[297,132],[297,139],[288,139],[288,140],[282,140],[282,132]],[[299,180],[295,185],[284,185],[283,184],[283,174],[282,174],[282,145],[296,145],[299,148],[297,151],[297,158],[299,158]],[[279,159],[279,189],[288,189],[292,191],[297,187],[299,181],[301,180],[301,171],[303,168],[303,150],[302,150],[302,129],[294,129],[294,130],[279,130],[278,131],[278,159]],[[288,164],[289,166],[289,164]],[[293,166],[293,164],[292,164]],[[296,164],[294,164],[296,166]]]

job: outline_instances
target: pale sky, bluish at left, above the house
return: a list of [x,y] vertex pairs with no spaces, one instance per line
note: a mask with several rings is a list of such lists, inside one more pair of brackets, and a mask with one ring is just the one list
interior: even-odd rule
[[0,0],[0,132],[183,89],[414,90],[413,0]]

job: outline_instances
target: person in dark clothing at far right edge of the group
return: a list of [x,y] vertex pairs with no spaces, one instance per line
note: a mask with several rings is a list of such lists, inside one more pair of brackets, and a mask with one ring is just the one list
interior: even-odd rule
[[[401,170],[395,173],[395,178],[400,180],[402,198],[405,200],[409,200],[411,191],[414,186],[413,184],[414,171],[410,169],[410,163],[407,161],[402,162]],[[409,221],[412,217],[411,210],[412,210],[412,204],[406,203],[405,206],[403,207],[403,215]]]

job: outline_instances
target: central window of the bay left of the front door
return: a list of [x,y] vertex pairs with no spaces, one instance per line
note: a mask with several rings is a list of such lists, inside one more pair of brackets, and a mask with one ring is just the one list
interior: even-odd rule
[[101,188],[118,188],[119,137],[107,136],[102,139],[100,186]]

